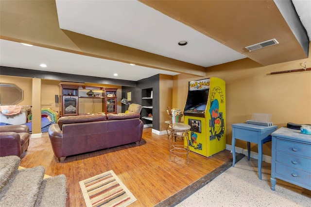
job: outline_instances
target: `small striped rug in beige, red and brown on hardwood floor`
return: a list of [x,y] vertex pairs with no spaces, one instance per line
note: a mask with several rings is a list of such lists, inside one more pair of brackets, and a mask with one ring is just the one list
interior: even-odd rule
[[87,207],[126,207],[137,200],[112,170],[79,184]]

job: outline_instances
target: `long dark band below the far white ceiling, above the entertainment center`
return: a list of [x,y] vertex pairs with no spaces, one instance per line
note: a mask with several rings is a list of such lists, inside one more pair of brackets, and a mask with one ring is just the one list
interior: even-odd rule
[[41,71],[41,70],[34,70],[34,69],[11,68],[11,67],[5,67],[5,66],[0,66],[0,75],[41,78],[41,79],[50,79],[50,80],[58,80],[58,81],[82,82],[82,83],[85,83],[85,82],[99,83],[99,84],[108,84],[108,85],[116,85],[116,86],[136,86],[135,81],[100,78],[100,77],[85,76],[85,75],[74,75],[74,74],[68,74],[68,73],[49,72],[49,71]]

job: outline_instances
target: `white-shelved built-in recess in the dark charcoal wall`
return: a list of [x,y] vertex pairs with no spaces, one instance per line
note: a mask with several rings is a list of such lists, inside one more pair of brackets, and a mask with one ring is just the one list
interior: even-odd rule
[[[145,88],[141,90],[141,119],[146,125],[152,125],[152,110],[153,110],[153,91],[152,88]],[[151,117],[150,117],[151,115]]]

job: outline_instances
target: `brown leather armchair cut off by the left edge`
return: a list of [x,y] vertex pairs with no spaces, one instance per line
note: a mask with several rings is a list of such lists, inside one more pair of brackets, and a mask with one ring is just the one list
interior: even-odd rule
[[29,146],[29,128],[26,125],[0,126],[0,156],[21,156]]

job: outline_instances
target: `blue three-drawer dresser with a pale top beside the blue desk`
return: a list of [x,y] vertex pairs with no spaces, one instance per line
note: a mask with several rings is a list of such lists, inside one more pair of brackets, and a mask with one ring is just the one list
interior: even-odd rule
[[271,190],[276,178],[311,190],[311,135],[284,127],[271,135]]

